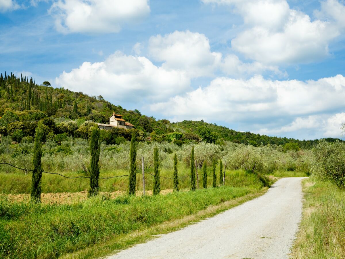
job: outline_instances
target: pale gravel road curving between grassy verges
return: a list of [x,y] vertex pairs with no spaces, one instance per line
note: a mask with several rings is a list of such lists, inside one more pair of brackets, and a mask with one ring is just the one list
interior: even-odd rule
[[108,258],[288,258],[302,214],[303,178]]

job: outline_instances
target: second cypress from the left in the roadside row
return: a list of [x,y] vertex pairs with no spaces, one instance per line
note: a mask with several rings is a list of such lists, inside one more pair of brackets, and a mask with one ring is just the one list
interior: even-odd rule
[[99,191],[99,152],[100,152],[99,128],[93,128],[90,138],[90,166],[88,168],[90,173],[90,190],[89,196],[97,195]]

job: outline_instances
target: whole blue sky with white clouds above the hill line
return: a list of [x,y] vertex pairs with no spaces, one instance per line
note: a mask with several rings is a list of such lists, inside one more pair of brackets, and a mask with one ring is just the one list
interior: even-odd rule
[[171,122],[343,138],[343,0],[0,0],[0,71]]

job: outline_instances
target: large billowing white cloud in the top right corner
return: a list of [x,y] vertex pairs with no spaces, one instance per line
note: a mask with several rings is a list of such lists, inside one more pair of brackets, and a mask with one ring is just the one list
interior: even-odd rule
[[[322,3],[319,18],[289,8],[286,0],[203,0],[235,6],[245,29],[231,40],[234,50],[263,64],[310,63],[329,55],[329,43],[344,28],[344,5],[336,0]],[[321,17],[332,19],[321,19]]]

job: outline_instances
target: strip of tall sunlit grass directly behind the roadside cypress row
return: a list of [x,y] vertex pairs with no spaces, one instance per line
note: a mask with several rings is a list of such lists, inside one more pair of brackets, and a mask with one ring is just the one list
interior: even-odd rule
[[[149,171],[150,172],[150,171]],[[152,172],[150,172],[152,173]],[[199,170],[199,186],[202,188],[202,176],[201,170]],[[218,172],[217,172],[218,173]],[[75,176],[87,176],[85,173],[71,173],[63,172],[63,175],[75,177]],[[128,174],[126,170],[116,170],[112,172],[101,171],[100,177],[109,177],[115,175]],[[189,169],[180,167],[179,176],[188,176]],[[173,170],[161,169],[161,176],[166,178],[172,178]],[[31,186],[31,173],[25,175],[24,173],[0,173],[0,193],[4,194],[22,194],[30,193]],[[240,187],[249,186],[253,187],[259,184],[259,180],[256,175],[247,173],[244,170],[235,170],[226,172],[226,186]],[[153,177],[152,175],[145,175],[146,190],[152,190]],[[173,189],[172,179],[164,179],[161,177],[161,189]],[[100,180],[99,185],[101,191],[113,192],[113,191],[128,191],[128,176],[122,178],[113,178],[109,180]],[[212,186],[211,172],[208,173],[207,185]],[[190,178],[179,179],[179,188],[188,189],[190,186]],[[89,179],[67,179],[59,175],[43,174],[42,176],[42,192],[43,193],[58,193],[58,192],[80,192],[86,191],[89,188]],[[142,191],[142,175],[137,174],[137,190]]]

